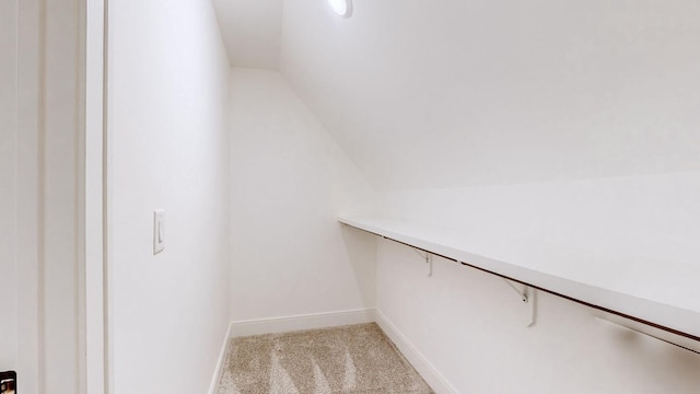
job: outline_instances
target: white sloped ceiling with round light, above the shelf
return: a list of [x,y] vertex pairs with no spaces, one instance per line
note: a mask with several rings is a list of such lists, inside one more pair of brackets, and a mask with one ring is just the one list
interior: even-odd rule
[[697,1],[353,3],[284,0],[279,68],[381,189],[700,170]]

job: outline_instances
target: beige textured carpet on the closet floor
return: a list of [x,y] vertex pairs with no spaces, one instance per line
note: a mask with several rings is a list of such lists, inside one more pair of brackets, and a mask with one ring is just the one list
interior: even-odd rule
[[232,339],[217,394],[433,393],[372,324]]

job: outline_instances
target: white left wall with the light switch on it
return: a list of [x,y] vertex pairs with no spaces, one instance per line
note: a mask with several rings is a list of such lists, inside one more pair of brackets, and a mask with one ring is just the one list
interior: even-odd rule
[[109,2],[109,40],[113,390],[205,393],[229,324],[229,61],[209,1]]

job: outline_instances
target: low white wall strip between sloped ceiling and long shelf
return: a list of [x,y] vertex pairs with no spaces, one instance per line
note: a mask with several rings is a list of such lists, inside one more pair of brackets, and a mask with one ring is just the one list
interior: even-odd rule
[[[619,263],[621,266],[607,269],[639,269],[634,277],[640,279],[644,276],[661,279],[668,277],[668,271],[673,276],[675,269],[679,276],[700,274],[699,172],[395,192],[383,197],[383,212],[388,217],[630,256]],[[575,271],[573,267],[567,268],[565,262],[559,268],[552,267],[552,273],[562,276],[568,270]],[[596,278],[595,269],[591,271],[592,277],[580,279],[602,287],[622,280],[606,273],[598,273]],[[651,285],[645,292],[661,290],[654,288],[653,280],[642,282]],[[676,286],[682,283],[682,279],[676,280]],[[689,285],[684,285],[688,293]],[[679,290],[681,293],[682,289]],[[697,300],[665,299],[664,294],[654,298],[700,312]]]

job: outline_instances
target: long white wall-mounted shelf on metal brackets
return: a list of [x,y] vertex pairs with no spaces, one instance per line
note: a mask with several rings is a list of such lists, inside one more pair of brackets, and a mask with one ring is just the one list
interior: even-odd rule
[[[375,217],[341,223],[700,343],[700,265]],[[656,267],[640,269],[640,267]]]

